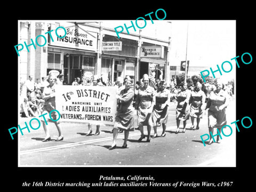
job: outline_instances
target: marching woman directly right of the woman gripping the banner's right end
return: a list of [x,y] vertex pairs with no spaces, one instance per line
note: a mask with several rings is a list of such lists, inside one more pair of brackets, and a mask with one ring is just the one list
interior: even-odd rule
[[147,142],[150,142],[150,131],[153,127],[152,111],[155,105],[155,90],[149,86],[149,77],[147,74],[143,75],[144,86],[138,91],[135,102],[135,109],[137,109],[138,125],[141,132],[141,137],[138,141],[145,138],[143,133],[143,126],[147,125],[148,137]]

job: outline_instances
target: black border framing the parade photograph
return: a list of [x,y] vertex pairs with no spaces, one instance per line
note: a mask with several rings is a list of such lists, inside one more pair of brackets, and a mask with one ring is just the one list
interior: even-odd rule
[[[23,3],[23,6],[17,6],[17,10],[10,10],[12,19],[7,19],[3,15],[2,19],[7,23],[7,29],[2,28],[5,39],[4,50],[2,53],[11,55],[2,63],[2,73],[4,78],[2,80],[4,89],[2,91],[4,104],[3,110],[3,127],[2,138],[4,138],[2,159],[4,162],[2,166],[6,169],[3,172],[5,186],[15,186],[16,189],[37,190],[38,188],[24,188],[23,182],[33,181],[51,181],[51,182],[97,182],[100,175],[124,176],[127,175],[151,175],[157,182],[201,182],[201,181],[233,181],[234,184],[228,189],[236,188],[251,188],[253,187],[253,173],[250,172],[254,163],[254,126],[250,129],[240,129],[237,133],[237,167],[18,167],[18,138],[14,137],[11,140],[9,129],[11,126],[18,124],[18,119],[15,114],[17,112],[17,82],[18,82],[18,68],[17,68],[17,54],[13,48],[18,44],[18,20],[70,20],[70,19],[113,19],[113,20],[134,20],[142,17],[147,13],[156,11],[157,9],[164,9],[167,13],[166,20],[236,20],[236,55],[241,55],[245,52],[251,53],[253,57],[250,65],[240,65],[236,68],[236,119],[242,119],[244,116],[251,117],[255,121],[255,115],[252,110],[254,103],[254,65],[255,65],[255,30],[253,20],[252,4],[241,3],[236,5],[223,5],[217,2],[204,2],[199,4],[192,2],[181,5],[173,4],[172,2],[142,2],[139,6],[137,3],[129,2],[97,2],[98,5],[91,3],[74,3],[61,2],[57,6],[52,3],[42,4],[41,9],[39,5],[30,7],[28,3]],[[106,3],[106,4],[105,4]],[[167,4],[168,3],[168,4]],[[127,5],[127,4],[130,4]],[[82,6],[83,5],[83,6]],[[33,5],[34,6],[34,5]],[[2,23],[6,26],[6,23]],[[5,27],[4,27],[5,28]],[[7,47],[7,49],[6,49]],[[4,54],[5,55],[5,54]],[[218,56],[217,56],[218,57]],[[209,58],[210,59],[210,58]],[[227,58],[229,59],[229,58]],[[230,58],[231,59],[231,58]],[[239,60],[241,62],[241,59]],[[7,83],[5,83],[7,81]],[[13,86],[14,85],[14,86]],[[14,115],[13,115],[14,114]],[[241,127],[241,124],[239,127]],[[6,141],[6,142],[5,142]],[[47,190],[60,190],[61,188],[47,188]],[[78,188],[69,188],[76,190]],[[95,188],[79,188],[79,190],[90,190]],[[104,190],[113,190],[112,188],[104,188]],[[133,188],[134,189],[134,188]],[[141,188],[146,189],[146,188]],[[154,189],[154,188],[153,188]],[[158,189],[158,188],[155,188]],[[170,188],[166,188],[170,190]],[[171,188],[177,189],[198,189],[198,188]],[[207,190],[207,188],[205,188]],[[226,188],[223,188],[226,189]],[[217,189],[219,190],[219,189]]]

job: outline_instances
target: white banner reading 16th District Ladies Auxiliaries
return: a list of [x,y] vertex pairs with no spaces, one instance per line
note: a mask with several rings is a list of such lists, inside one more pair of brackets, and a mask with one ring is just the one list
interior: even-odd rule
[[115,123],[115,87],[60,85],[55,89],[55,100],[61,122]]

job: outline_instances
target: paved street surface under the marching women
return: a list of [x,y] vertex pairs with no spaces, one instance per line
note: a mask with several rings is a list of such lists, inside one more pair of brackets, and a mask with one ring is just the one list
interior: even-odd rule
[[[58,138],[57,128],[49,123],[51,141],[42,142],[45,138],[43,126],[38,130],[19,131],[19,166],[236,166],[236,129],[231,122],[235,119],[235,101],[232,101],[227,111],[228,125],[233,128],[233,134],[225,137],[222,134],[221,143],[212,143],[204,147],[200,135],[208,133],[207,112],[199,124],[199,130],[190,130],[191,121],[187,121],[186,133],[181,133],[183,123],[180,123],[180,132],[175,134],[176,120],[175,107],[172,102],[169,109],[169,121],[166,136],[162,134],[162,125],[157,127],[157,138],[150,142],[140,138],[140,131],[130,132],[127,147],[123,149],[124,133],[118,134],[117,148],[109,150],[113,140],[110,133],[112,127],[101,126],[100,135],[93,135],[96,127],[92,126],[93,133],[88,132],[87,124],[61,123],[64,140],[54,141]],[[30,118],[20,118],[20,125],[29,124]],[[33,121],[34,123],[35,121]],[[33,124],[32,123],[32,124]],[[35,123],[34,127],[38,124]],[[196,126],[196,119],[195,119]],[[147,135],[147,127],[144,126]],[[214,129],[214,134],[217,131]],[[230,133],[229,129],[225,134]],[[239,133],[238,133],[239,134]],[[154,130],[151,130],[151,137]],[[215,137],[216,138],[216,137]]]

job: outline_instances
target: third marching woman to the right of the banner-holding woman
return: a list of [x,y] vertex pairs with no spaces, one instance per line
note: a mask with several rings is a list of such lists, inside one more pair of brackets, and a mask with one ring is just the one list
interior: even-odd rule
[[176,123],[177,130],[176,133],[179,133],[180,121],[183,121],[183,130],[182,133],[186,132],[187,120],[189,119],[189,99],[191,92],[187,89],[187,83],[183,82],[181,90],[177,95],[177,108],[176,108]]

